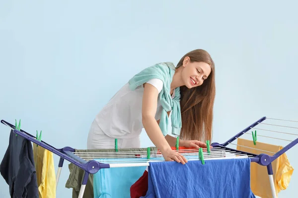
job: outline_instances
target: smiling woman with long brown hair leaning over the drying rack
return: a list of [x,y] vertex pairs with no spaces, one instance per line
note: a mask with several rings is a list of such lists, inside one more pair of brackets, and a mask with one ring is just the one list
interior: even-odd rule
[[[215,67],[210,54],[196,49],[185,54],[177,66],[158,63],[136,74],[95,117],[87,148],[139,148],[144,128],[166,161],[186,163],[171,149],[179,135],[181,147],[206,147],[211,140],[215,99]],[[198,141],[201,140],[202,142]]]

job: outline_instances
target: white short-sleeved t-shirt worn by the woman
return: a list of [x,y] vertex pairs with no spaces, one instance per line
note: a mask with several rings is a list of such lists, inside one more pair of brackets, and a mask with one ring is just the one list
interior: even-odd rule
[[[153,85],[158,94],[161,92],[163,82],[160,79],[151,79],[147,83]],[[110,101],[96,115],[95,121],[101,131],[111,138],[129,139],[139,136],[142,132],[142,100],[144,86],[139,86],[134,91],[125,84]],[[172,99],[175,96],[175,90]],[[162,106],[157,99],[155,119],[159,120]],[[94,132],[96,133],[96,132]]]

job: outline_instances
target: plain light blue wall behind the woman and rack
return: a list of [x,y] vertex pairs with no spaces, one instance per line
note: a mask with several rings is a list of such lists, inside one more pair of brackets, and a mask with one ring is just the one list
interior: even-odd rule
[[[25,131],[42,130],[54,147],[86,148],[94,116],[130,77],[199,48],[216,63],[213,141],[223,143],[262,116],[298,120],[296,7],[294,0],[1,0],[0,119],[21,119]],[[1,124],[0,131],[2,159],[9,128]],[[142,146],[152,146],[145,133]],[[287,152],[294,168],[297,151]],[[67,165],[58,198],[71,197]],[[295,170],[279,197],[293,197],[297,186]],[[2,177],[0,197],[9,197]]]

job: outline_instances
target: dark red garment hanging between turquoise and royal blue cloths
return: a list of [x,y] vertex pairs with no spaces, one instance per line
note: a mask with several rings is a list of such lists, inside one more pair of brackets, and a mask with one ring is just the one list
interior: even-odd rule
[[145,197],[148,191],[148,171],[145,170],[142,177],[131,186],[131,198]]

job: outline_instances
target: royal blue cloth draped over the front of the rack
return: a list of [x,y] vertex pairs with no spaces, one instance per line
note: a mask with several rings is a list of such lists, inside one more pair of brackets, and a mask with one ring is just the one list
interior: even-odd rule
[[142,198],[255,198],[250,158],[149,162],[148,192]]

